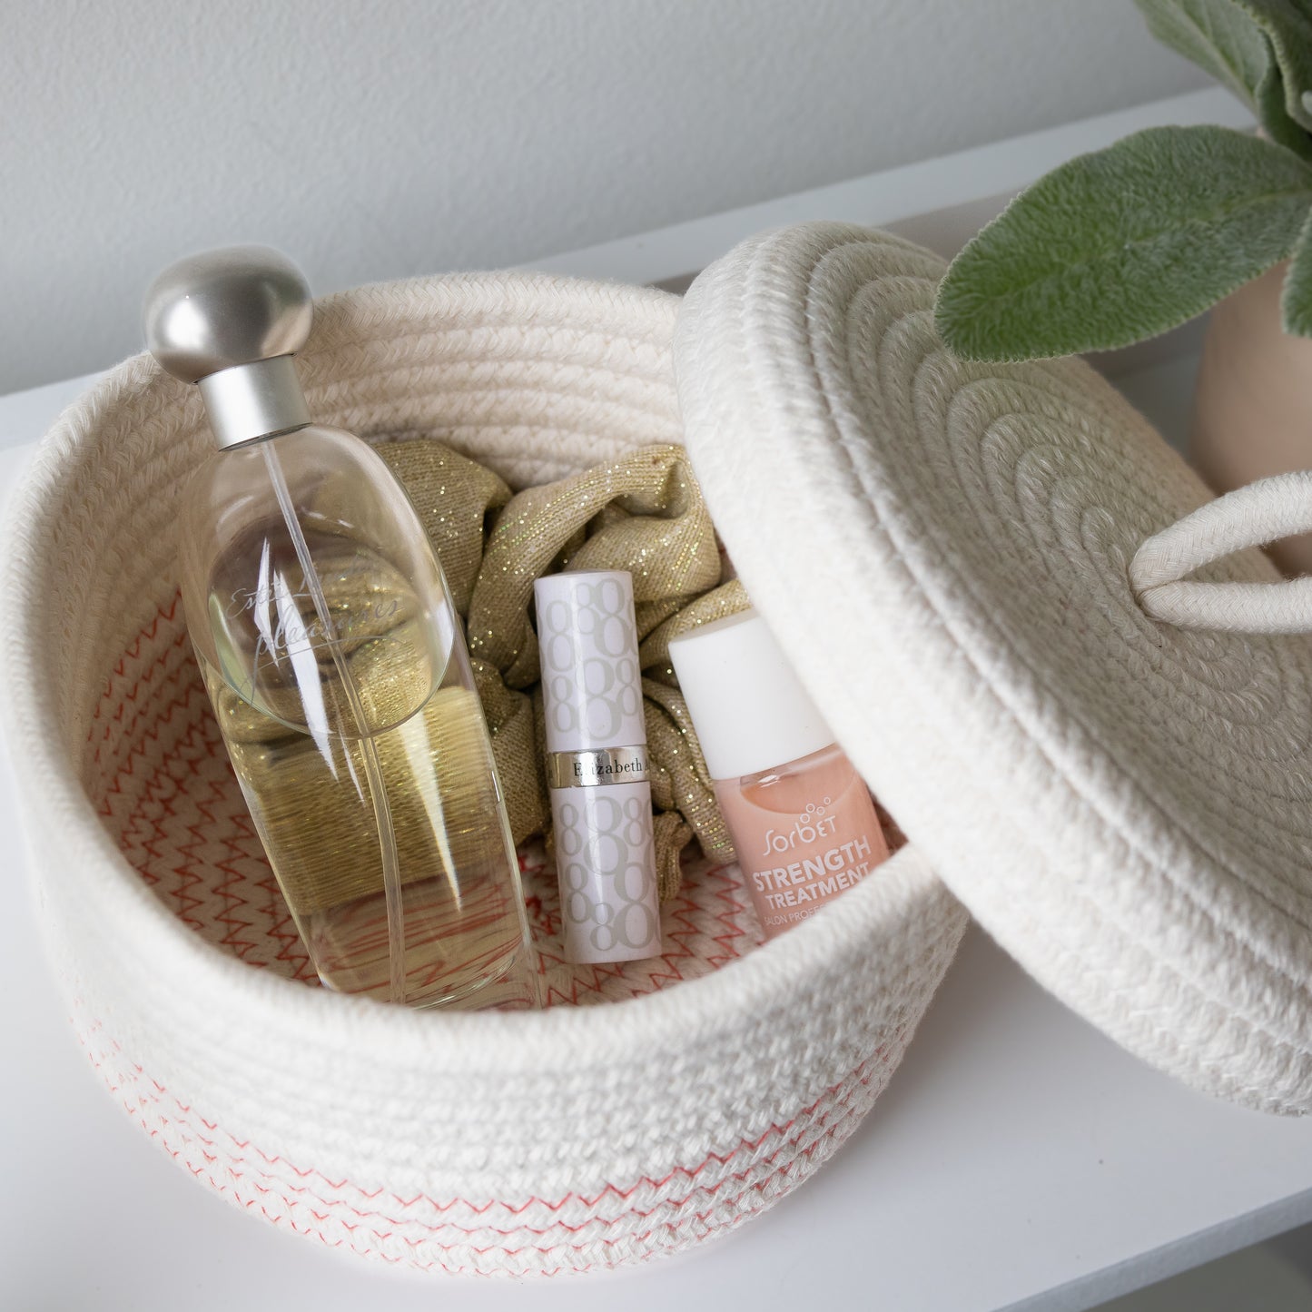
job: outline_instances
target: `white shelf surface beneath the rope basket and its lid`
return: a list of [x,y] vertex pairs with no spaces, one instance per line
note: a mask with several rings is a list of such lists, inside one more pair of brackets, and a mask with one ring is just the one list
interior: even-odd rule
[[[1210,96],[1186,97],[1190,114],[1220,118]],[[1189,118],[1169,104],[1135,113],[1132,122],[1076,125],[1073,148],[1145,121]],[[1031,171],[1013,167],[1005,186],[1072,152],[1040,136]],[[950,189],[934,195],[941,211],[970,199]],[[724,249],[762,219],[789,216],[720,216],[714,241]],[[871,202],[842,216],[900,215]],[[701,240],[661,245],[648,276],[695,268]],[[593,272],[588,261],[577,268]],[[33,440],[85,382],[0,398],[0,487],[13,485]],[[1187,357],[1118,382],[1179,430]],[[100,1086],[41,953],[8,769],[0,779],[0,827],[13,836],[0,917],[9,1057],[0,1086],[3,1308],[609,1312],[619,1303],[668,1312],[731,1299],[781,1312],[1078,1309],[1312,1220],[1312,1119],[1190,1093],[1054,1001],[972,929],[851,1141],[737,1233],[636,1271],[527,1286],[434,1282],[341,1258],[197,1187]]]

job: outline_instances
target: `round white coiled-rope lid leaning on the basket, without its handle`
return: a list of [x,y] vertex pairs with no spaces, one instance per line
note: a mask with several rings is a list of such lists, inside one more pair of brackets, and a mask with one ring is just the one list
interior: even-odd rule
[[[967,365],[943,264],[806,224],[676,341],[735,564],[840,741],[1035,979],[1197,1089],[1312,1109],[1312,640],[1148,619],[1138,546],[1210,499],[1078,361]],[[1202,575],[1275,579],[1256,551]]]

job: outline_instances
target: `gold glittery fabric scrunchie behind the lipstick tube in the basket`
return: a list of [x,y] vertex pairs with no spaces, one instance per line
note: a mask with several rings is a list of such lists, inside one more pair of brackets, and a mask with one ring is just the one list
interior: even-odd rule
[[[474,677],[516,842],[548,834],[533,584],[559,569],[634,576],[663,901],[678,892],[680,853],[695,834],[708,857],[733,849],[715,803],[669,642],[748,605],[723,560],[681,446],[649,446],[583,474],[512,495],[491,470],[428,440],[384,443],[466,621]],[[491,523],[491,531],[488,525]]]

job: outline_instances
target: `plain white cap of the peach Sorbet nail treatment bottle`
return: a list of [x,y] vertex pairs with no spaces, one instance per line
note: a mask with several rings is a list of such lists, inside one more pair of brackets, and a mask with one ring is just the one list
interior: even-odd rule
[[754,610],[669,644],[712,779],[737,779],[829,747],[833,732]]

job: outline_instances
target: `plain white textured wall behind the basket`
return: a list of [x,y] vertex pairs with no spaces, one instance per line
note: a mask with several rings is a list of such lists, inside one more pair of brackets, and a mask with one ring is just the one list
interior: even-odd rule
[[203,247],[510,264],[1202,84],[1128,0],[0,0],[0,392]]

